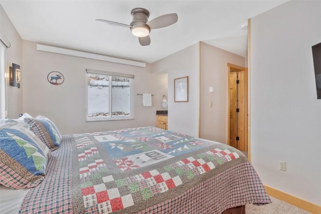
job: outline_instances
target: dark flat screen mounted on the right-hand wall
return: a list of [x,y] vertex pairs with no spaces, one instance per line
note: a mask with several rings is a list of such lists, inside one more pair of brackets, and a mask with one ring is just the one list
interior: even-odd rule
[[312,46],[317,99],[321,99],[321,43]]

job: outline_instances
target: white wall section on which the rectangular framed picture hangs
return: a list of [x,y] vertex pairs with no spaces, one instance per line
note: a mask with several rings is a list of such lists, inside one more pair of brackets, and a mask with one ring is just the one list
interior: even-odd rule
[[[168,128],[199,135],[199,44],[192,45],[152,64],[153,72],[168,73]],[[174,79],[189,77],[189,102],[174,102]]]

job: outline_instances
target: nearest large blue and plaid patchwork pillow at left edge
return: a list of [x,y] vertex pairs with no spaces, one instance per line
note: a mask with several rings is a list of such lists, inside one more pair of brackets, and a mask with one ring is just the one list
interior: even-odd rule
[[22,123],[0,124],[0,184],[12,188],[37,186],[46,174],[49,148]]

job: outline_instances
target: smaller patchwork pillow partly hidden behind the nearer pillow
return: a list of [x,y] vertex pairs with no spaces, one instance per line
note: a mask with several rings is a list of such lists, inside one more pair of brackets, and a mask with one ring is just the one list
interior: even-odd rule
[[51,151],[60,145],[61,135],[55,124],[49,119],[24,118],[25,123]]

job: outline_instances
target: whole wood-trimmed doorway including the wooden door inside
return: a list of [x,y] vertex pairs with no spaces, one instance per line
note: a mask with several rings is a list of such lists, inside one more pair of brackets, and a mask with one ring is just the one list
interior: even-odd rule
[[247,68],[227,64],[228,118],[227,143],[241,151],[248,151],[248,80]]

